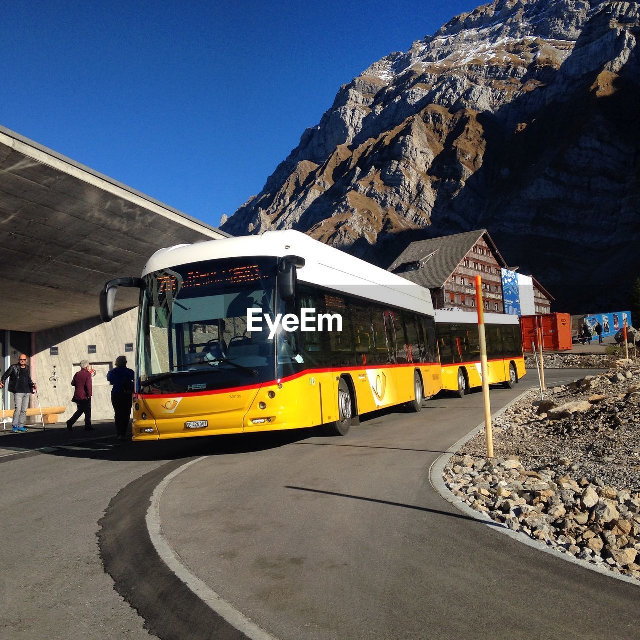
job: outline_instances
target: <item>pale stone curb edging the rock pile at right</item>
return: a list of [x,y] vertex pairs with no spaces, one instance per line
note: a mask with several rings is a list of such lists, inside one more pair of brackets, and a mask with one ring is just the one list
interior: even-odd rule
[[[511,406],[513,406],[515,403],[522,400],[522,398],[524,398],[524,396],[526,396],[529,392],[531,392],[531,390],[532,389],[529,388],[526,391],[522,392],[520,396],[516,397],[510,403],[503,406],[502,409],[500,409],[498,412],[493,413],[492,420],[495,420],[496,418],[500,417],[500,415],[505,413],[509,408],[511,408]],[[618,573],[607,571],[606,569],[601,568],[596,564],[591,564],[591,563],[585,562],[584,560],[579,560],[573,556],[570,556],[569,554],[563,554],[563,552],[558,551],[557,549],[554,549],[552,547],[547,547],[547,545],[545,545],[544,543],[538,542],[536,540],[532,540],[526,534],[512,531],[511,529],[509,529],[509,527],[506,527],[504,524],[500,522],[496,522],[495,520],[492,520],[492,518],[490,518],[488,515],[485,515],[484,513],[480,513],[479,511],[476,511],[475,509],[470,508],[470,506],[468,506],[465,502],[460,500],[460,498],[458,498],[456,495],[453,495],[453,493],[449,490],[444,480],[442,479],[444,468],[446,467],[447,462],[449,461],[449,458],[451,458],[451,456],[454,455],[457,451],[460,451],[463,445],[467,444],[467,442],[471,440],[471,438],[474,438],[478,433],[481,433],[481,431],[484,431],[484,422],[481,422],[481,424],[479,424],[475,429],[470,431],[470,433],[468,433],[466,436],[463,436],[463,438],[460,438],[460,440],[458,440],[456,444],[451,445],[451,447],[448,447],[449,451],[442,454],[442,456],[440,456],[440,458],[438,458],[438,460],[436,460],[431,465],[431,468],[429,468],[429,482],[431,483],[431,486],[433,486],[433,488],[436,490],[436,492],[440,494],[440,497],[447,500],[449,504],[452,504],[456,509],[458,509],[458,511],[462,511],[462,513],[469,516],[470,518],[474,518],[474,520],[477,520],[482,524],[486,524],[490,526],[493,531],[499,531],[500,533],[506,536],[509,536],[509,538],[512,538],[513,540],[516,540],[519,543],[532,547],[538,551],[542,551],[544,553],[550,554],[554,558],[564,560],[565,562],[575,564],[576,566],[580,566],[590,571],[595,571],[596,573],[600,573],[600,575],[607,576],[607,578],[614,578],[616,580],[621,580],[621,582],[627,582],[628,584],[633,584],[636,587],[640,587],[638,580],[634,580],[633,578],[630,578],[626,575],[619,575]]]

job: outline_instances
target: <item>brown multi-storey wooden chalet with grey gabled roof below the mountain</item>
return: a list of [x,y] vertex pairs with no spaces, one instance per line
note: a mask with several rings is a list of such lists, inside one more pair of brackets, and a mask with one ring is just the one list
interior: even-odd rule
[[[436,309],[476,308],[476,276],[482,276],[484,308],[504,313],[502,269],[509,269],[486,229],[410,244],[388,268],[431,291]],[[536,314],[549,313],[553,298],[533,279]]]

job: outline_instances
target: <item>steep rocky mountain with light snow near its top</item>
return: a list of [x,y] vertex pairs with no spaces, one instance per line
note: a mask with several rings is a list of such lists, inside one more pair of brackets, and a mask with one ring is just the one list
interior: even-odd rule
[[387,266],[415,239],[486,227],[556,310],[625,307],[640,275],[639,35],[638,3],[464,13],[342,86],[222,228],[296,228]]

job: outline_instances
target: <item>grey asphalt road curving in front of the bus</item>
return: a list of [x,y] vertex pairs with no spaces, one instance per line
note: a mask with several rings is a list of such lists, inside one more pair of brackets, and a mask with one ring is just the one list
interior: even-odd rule
[[[496,390],[493,410],[533,382]],[[0,637],[242,637],[223,622],[191,625],[182,614],[205,620],[201,604],[140,528],[153,488],[203,454],[163,494],[164,533],[200,579],[282,640],[637,637],[637,587],[520,545],[433,490],[433,461],[482,419],[474,393],[375,414],[345,438],[3,436],[0,456],[55,446],[0,457]]]

